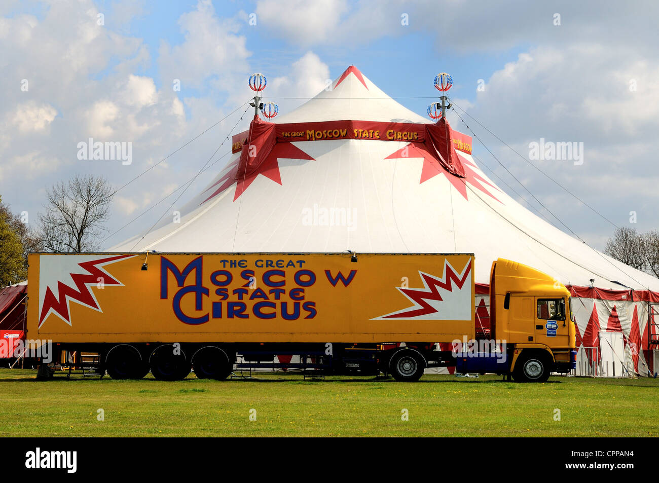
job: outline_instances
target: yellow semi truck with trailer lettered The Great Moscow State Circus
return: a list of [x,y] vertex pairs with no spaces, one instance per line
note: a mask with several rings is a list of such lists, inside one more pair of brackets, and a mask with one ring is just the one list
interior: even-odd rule
[[473,254],[32,254],[28,339],[98,353],[101,374],[229,377],[236,368],[426,368],[544,381],[575,364],[569,292],[497,260],[491,340],[476,340]]

